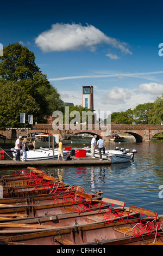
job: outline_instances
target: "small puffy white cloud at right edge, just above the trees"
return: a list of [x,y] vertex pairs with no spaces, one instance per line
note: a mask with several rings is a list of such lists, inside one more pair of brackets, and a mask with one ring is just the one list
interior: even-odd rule
[[139,87],[144,93],[150,93],[154,95],[163,93],[163,85],[156,84],[154,82],[150,82],[149,84],[141,84]]

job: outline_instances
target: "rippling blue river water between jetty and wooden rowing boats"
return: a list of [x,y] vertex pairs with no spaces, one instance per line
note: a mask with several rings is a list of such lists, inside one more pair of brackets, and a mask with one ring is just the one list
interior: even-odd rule
[[[72,147],[90,146],[91,139],[73,139]],[[124,201],[126,206],[139,206],[163,214],[163,140],[136,143],[106,143],[106,149],[116,146],[136,149],[134,162],[99,166],[68,166],[42,168],[68,184],[82,186],[88,193],[102,190],[102,197]],[[1,175],[14,170],[1,169]],[[162,187],[161,187],[162,186]]]

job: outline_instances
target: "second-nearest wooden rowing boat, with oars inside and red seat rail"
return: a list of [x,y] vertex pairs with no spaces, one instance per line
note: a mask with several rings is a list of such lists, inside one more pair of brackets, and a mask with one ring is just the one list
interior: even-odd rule
[[[79,205],[78,205],[79,206]],[[94,205],[93,205],[94,206]],[[110,206],[110,207],[109,207]],[[119,206],[119,207],[117,207]],[[97,210],[98,209],[98,210]],[[79,212],[73,209],[70,211],[70,207],[62,207],[62,213],[58,215],[51,216],[40,216],[33,218],[24,218],[16,221],[1,221],[0,222],[0,236],[4,236],[6,231],[6,236],[9,235],[10,231],[13,235],[14,232],[26,233],[29,230],[32,232],[34,229],[39,228],[41,230],[45,228],[65,228],[75,224],[85,225],[91,222],[98,222],[105,224],[106,222],[119,221],[120,219],[125,219],[128,216],[129,209],[124,209],[124,202],[106,199],[101,201],[101,206],[96,208],[90,208],[89,211],[84,209],[83,212]],[[132,215],[130,215],[132,216]],[[38,223],[40,227],[37,227]],[[23,226],[24,225],[24,226]],[[28,227],[29,225],[29,227]],[[33,226],[32,226],[33,225]],[[28,229],[28,230],[27,230]],[[2,231],[2,232],[1,232]]]

